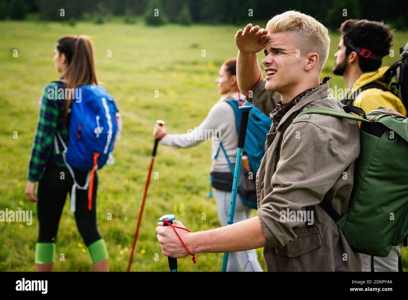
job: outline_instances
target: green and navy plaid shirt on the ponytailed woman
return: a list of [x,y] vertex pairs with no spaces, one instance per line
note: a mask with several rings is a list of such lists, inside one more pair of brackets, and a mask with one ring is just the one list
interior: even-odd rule
[[[53,139],[56,131],[60,132],[65,144],[68,144],[69,128],[64,124],[64,99],[58,99],[55,94],[55,86],[63,88],[57,82],[51,82],[44,88],[41,98],[40,117],[35,133],[33,149],[29,163],[27,179],[29,181],[39,181],[44,173],[44,168],[49,159],[52,159],[58,166],[65,167],[62,154],[56,154]],[[52,89],[51,92],[49,89]],[[54,95],[54,97],[52,97]],[[51,99],[49,99],[49,96]],[[61,143],[58,144],[62,150]]]

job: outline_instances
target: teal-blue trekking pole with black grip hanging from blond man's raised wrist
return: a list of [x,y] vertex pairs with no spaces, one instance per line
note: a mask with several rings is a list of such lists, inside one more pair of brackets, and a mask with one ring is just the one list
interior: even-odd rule
[[[246,126],[248,125],[249,110],[251,110],[252,107],[251,106],[239,106],[239,109],[242,110],[241,123],[239,124],[238,151],[237,151],[237,159],[235,161],[234,181],[233,181],[232,191],[231,191],[231,203],[230,203],[230,210],[228,214],[227,225],[231,225],[232,223],[234,223],[235,201],[237,200],[242,150],[244,150],[245,137],[246,137]],[[226,272],[227,270],[227,263],[228,263],[228,252],[225,252],[224,259],[222,260],[222,271],[223,272]]]

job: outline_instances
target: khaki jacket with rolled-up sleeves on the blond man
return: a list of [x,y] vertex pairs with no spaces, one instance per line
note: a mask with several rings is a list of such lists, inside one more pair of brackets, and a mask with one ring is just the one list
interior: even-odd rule
[[[257,108],[269,115],[280,97],[265,90],[265,82],[262,79],[255,86],[252,99]],[[272,125],[266,137],[266,153],[257,172],[256,186],[268,271],[361,271],[359,255],[319,206],[325,198],[340,215],[347,211],[354,161],[360,152],[357,122],[302,115],[284,132],[277,162],[282,134],[279,130],[292,113],[314,106],[342,110],[328,89],[326,82],[303,97],[277,128]],[[304,219],[291,219],[289,215],[287,220],[282,219],[287,209],[295,213],[309,210],[309,216],[313,213],[313,225],[306,226]]]

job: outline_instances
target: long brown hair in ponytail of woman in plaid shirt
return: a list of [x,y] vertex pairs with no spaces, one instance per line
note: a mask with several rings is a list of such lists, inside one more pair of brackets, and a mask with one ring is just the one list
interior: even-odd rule
[[[77,88],[85,84],[98,84],[93,60],[93,47],[87,36],[67,35],[60,38],[56,48],[67,57],[68,68],[64,73],[65,88]],[[64,100],[64,121],[67,124],[68,110],[74,95]]]

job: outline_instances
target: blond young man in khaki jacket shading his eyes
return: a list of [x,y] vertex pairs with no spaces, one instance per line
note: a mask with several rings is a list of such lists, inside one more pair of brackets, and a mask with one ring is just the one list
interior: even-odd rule
[[[361,271],[359,256],[319,206],[328,201],[341,215],[347,210],[360,150],[357,122],[313,114],[293,120],[309,107],[342,110],[328,92],[328,78],[319,82],[329,52],[327,29],[308,15],[286,11],[269,20],[266,29],[251,24],[240,29],[235,44],[244,94],[259,78],[257,52],[266,55],[266,78],[249,99],[273,121],[257,173],[257,216],[218,229],[177,232],[192,253],[264,247],[268,271]],[[288,210],[313,218],[308,224],[303,218],[282,218]],[[163,254],[188,255],[173,229],[158,225]]]

